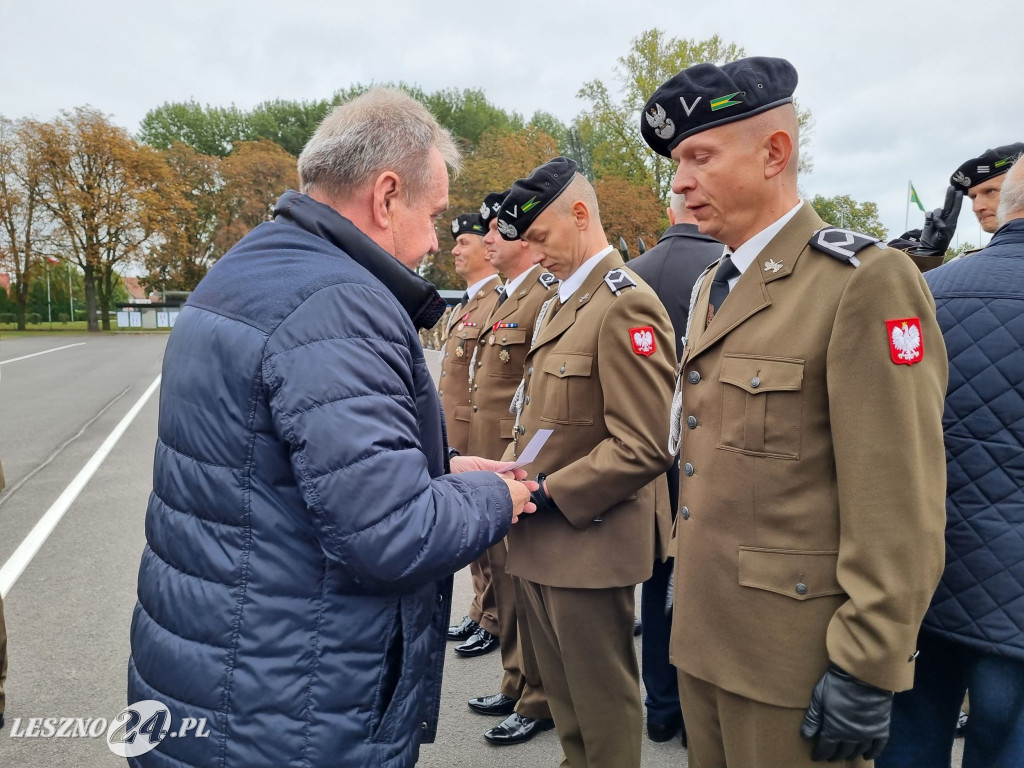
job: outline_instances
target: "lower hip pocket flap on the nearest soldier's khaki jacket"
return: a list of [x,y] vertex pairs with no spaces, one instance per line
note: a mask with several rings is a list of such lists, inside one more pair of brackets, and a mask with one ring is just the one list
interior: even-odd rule
[[739,548],[739,585],[776,592],[795,600],[841,595],[838,552]]

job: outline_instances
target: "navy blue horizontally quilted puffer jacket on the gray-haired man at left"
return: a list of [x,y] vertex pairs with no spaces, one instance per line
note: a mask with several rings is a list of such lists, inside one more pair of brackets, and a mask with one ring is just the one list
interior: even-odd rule
[[432,740],[452,574],[512,517],[494,473],[445,474],[416,328],[439,300],[297,193],[193,293],[164,356],[128,701],[209,735],[133,766],[397,768]]

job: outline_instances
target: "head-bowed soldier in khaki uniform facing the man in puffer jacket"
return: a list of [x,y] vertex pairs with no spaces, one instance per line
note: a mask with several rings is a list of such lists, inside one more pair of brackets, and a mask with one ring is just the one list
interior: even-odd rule
[[642,712],[634,589],[651,573],[655,515],[670,517],[665,471],[675,359],[654,292],[623,268],[593,187],[555,158],[520,179],[498,214],[561,283],[545,302],[516,395],[506,459],[553,430],[526,467],[536,514],[509,537],[520,622],[530,637],[563,766],[640,765]]

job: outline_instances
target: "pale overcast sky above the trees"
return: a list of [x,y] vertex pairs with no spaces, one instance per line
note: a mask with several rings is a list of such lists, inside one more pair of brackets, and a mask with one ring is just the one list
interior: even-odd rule
[[[908,179],[937,207],[961,163],[1024,141],[1020,0],[0,0],[0,114],[91,104],[134,132],[165,101],[251,109],[403,80],[568,122],[580,86],[612,85],[654,27],[793,61],[815,119],[803,191],[873,201],[893,237]],[[979,243],[969,205],[957,239]]]

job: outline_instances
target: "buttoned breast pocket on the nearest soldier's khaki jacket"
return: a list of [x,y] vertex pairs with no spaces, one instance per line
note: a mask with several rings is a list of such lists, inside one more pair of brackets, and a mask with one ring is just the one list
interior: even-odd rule
[[774,459],[800,458],[803,360],[727,354],[720,380],[719,447]]

